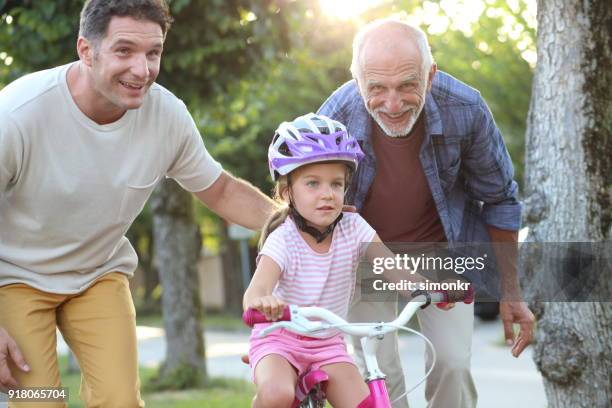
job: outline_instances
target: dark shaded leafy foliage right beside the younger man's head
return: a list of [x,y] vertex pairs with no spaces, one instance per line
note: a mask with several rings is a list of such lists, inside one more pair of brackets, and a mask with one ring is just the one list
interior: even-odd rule
[[158,82],[191,109],[207,105],[261,61],[286,47],[285,23],[271,1],[174,0],[175,24]]

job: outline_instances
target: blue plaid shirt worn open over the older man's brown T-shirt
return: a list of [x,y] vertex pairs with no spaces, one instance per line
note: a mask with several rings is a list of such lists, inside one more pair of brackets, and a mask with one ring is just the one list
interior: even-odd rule
[[[376,173],[376,157],[370,140],[373,120],[357,83],[338,88],[319,113],[344,123],[366,154],[347,193],[347,202],[361,211]],[[419,158],[447,240],[488,242],[487,225],[518,230],[521,204],[512,161],[480,93],[438,71],[424,114]]]

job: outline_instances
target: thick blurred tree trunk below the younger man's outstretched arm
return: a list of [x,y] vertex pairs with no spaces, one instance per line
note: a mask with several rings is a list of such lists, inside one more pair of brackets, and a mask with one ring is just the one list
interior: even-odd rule
[[163,181],[151,199],[156,263],[162,285],[166,359],[160,388],[189,388],[206,377],[196,263],[201,236],[191,194]]

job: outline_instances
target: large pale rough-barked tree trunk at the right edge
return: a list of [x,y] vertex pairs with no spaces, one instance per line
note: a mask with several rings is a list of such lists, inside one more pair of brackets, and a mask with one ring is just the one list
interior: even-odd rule
[[[525,161],[529,241],[612,236],[611,27],[608,0],[538,1]],[[559,268],[541,268],[529,255],[522,262],[532,294],[563,278]],[[609,279],[609,270],[598,272]],[[534,359],[549,406],[612,406],[612,299],[605,300],[534,305]]]

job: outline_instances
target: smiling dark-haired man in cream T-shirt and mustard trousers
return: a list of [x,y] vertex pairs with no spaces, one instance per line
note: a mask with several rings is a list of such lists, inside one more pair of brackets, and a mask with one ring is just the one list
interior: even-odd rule
[[87,406],[143,406],[125,233],[155,185],[250,228],[273,209],[155,83],[170,23],[164,0],[89,0],[79,60],[0,91],[0,390],[59,387],[58,327]]

